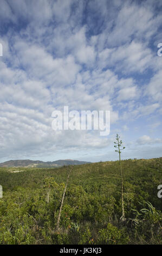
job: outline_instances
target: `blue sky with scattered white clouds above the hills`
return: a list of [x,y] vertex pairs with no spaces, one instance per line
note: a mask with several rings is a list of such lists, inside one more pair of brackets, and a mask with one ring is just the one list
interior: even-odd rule
[[[162,156],[161,0],[1,0],[0,162]],[[162,50],[161,50],[162,53]],[[108,136],[51,127],[55,110],[111,111]]]

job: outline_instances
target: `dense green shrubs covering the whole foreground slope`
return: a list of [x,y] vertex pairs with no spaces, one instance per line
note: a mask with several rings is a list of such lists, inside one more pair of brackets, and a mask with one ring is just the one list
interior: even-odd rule
[[[0,168],[1,244],[161,244],[162,159]],[[10,170],[10,172],[9,172]],[[21,170],[22,172],[15,172]]]

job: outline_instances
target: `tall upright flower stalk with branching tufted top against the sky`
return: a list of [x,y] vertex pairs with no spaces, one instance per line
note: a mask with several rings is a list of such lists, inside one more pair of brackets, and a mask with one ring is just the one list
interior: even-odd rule
[[124,212],[124,195],[123,195],[123,175],[122,175],[122,168],[121,168],[121,150],[125,149],[125,147],[122,147],[122,141],[120,140],[120,136],[116,134],[116,141],[114,142],[114,147],[117,148],[115,152],[119,154],[119,162],[120,162],[120,173],[121,173],[121,208],[122,208],[122,216],[120,217],[121,221],[125,221],[125,212]]

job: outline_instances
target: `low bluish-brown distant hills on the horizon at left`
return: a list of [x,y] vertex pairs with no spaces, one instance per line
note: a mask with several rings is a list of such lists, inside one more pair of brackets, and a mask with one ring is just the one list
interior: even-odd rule
[[10,160],[7,162],[0,163],[0,167],[59,167],[69,166],[71,164],[85,164],[90,162],[77,161],[72,159],[57,160],[53,162],[33,161],[33,160]]

